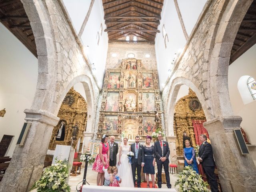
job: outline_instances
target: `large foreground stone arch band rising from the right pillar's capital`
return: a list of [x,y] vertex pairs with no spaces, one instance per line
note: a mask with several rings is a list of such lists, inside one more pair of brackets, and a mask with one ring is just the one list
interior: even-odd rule
[[214,116],[232,116],[228,92],[230,52],[240,24],[253,0],[228,1],[216,32],[210,59],[210,100]]

